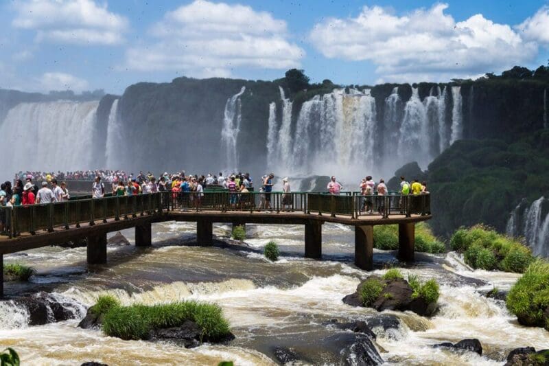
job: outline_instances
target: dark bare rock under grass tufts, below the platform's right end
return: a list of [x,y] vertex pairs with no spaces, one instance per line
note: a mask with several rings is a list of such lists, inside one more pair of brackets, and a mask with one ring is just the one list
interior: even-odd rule
[[[436,303],[428,304],[421,297],[412,298],[414,290],[412,290],[406,280],[369,277],[365,281],[372,278],[382,282],[382,284],[384,284],[384,288],[369,307],[380,312],[383,310],[411,310],[412,312],[415,312],[423,317],[428,317],[436,311]],[[344,304],[351,306],[362,306],[362,301],[360,301],[359,295],[362,284],[364,284],[364,282],[358,284],[355,293],[347,295],[342,299]]]

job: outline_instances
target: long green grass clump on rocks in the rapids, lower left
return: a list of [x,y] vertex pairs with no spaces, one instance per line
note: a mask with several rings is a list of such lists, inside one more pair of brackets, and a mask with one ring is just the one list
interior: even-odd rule
[[102,330],[109,336],[125,340],[148,339],[153,329],[176,327],[187,320],[194,321],[202,329],[201,341],[216,341],[230,332],[229,322],[220,306],[215,304],[180,301],[153,306],[119,306],[107,298],[100,298],[102,304],[98,308],[105,311]]

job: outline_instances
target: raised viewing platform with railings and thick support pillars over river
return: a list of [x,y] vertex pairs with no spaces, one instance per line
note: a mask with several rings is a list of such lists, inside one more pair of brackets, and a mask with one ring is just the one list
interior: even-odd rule
[[[268,203],[270,205],[268,206]],[[366,203],[366,207],[364,206]],[[365,209],[367,208],[367,210]],[[1,207],[3,255],[86,238],[87,262],[107,260],[107,233],[135,227],[135,245],[152,243],[154,222],[196,222],[197,242],[213,244],[213,223],[305,225],[305,257],[322,258],[322,225],[355,227],[355,264],[373,268],[373,227],[399,225],[399,260],[414,260],[414,225],[429,220],[430,195],[361,196],[309,192],[158,192],[75,199],[45,205]],[[3,293],[3,279],[0,281]]]

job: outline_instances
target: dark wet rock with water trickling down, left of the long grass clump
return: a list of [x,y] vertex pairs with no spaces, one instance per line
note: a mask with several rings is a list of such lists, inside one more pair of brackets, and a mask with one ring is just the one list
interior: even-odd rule
[[27,309],[29,325],[77,319],[83,312],[80,305],[75,305],[69,299],[44,292],[21,297],[14,300],[14,303]]

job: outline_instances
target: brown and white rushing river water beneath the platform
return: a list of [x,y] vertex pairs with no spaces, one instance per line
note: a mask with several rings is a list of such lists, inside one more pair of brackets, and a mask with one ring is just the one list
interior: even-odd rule
[[[189,223],[153,225],[153,247],[109,247],[108,264],[88,267],[86,249],[47,247],[6,255],[38,271],[30,284],[8,283],[5,293],[15,297],[46,290],[69,299],[73,312],[83,317],[86,307],[102,293],[122,303],[154,304],[196,299],[220,304],[236,338],[229,345],[185,349],[174,343],[122,341],[98,330],[82,330],[78,320],[28,326],[28,314],[10,301],[0,303],[0,347],[14,347],[32,365],[80,365],[97,361],[108,365],[272,365],[275,347],[292,347],[309,363],[338,362],[341,334],[331,319],[351,321],[379,318],[367,308],[342,303],[369,273],[353,266],[352,229],[323,227],[325,260],[303,258],[303,227],[247,225],[250,249],[235,245],[196,247],[196,227]],[[229,236],[230,227],[215,226],[214,234]],[[123,231],[130,240],[133,231]],[[275,240],[281,260],[270,263],[260,254]],[[384,312],[396,317],[395,329],[374,328],[377,350],[386,363],[403,365],[500,365],[509,350],[533,346],[549,348],[549,333],[525,328],[506,311],[502,301],[479,293],[497,286],[505,290],[518,275],[470,271],[454,253],[417,255],[419,261],[404,273],[441,283],[440,311],[431,319],[411,312]],[[393,252],[375,251],[374,273],[395,262]],[[452,352],[431,345],[477,338],[483,356]],[[352,360],[351,360],[352,361]],[[297,363],[301,364],[301,363]]]

